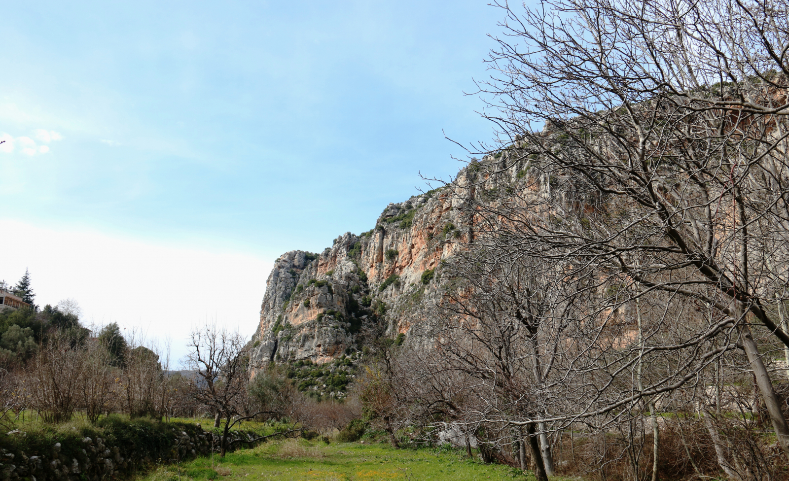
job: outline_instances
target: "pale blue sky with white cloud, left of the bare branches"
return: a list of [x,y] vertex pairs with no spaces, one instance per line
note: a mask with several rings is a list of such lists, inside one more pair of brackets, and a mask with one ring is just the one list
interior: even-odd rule
[[0,279],[151,341],[251,335],[273,261],[489,141],[482,1],[2,2]]

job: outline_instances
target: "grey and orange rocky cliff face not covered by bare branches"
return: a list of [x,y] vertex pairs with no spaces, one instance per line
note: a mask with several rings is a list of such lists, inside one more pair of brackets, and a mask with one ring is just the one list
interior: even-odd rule
[[[499,175],[515,181],[523,172],[513,166]],[[460,207],[484,195],[486,177],[472,164],[453,185],[390,203],[371,231],[345,233],[320,254],[280,256],[252,337],[253,370],[271,361],[323,364],[356,352],[357,331],[372,316],[383,315],[387,334],[403,334],[407,341],[414,323],[424,319],[422,308],[436,296],[441,260],[473,242],[472,219]]]

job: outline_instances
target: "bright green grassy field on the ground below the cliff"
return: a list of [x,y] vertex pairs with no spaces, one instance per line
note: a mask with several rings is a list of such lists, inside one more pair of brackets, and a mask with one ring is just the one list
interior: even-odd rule
[[[252,449],[203,457],[149,472],[140,481],[498,481],[534,479],[529,473],[499,464],[470,460],[451,449],[392,449],[379,444],[307,442],[289,439]],[[555,478],[557,481],[559,478]]]

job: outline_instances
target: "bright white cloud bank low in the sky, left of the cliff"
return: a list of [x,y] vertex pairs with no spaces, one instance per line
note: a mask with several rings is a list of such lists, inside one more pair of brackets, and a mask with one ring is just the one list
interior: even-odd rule
[[14,220],[2,220],[2,226],[25,233],[0,237],[0,250],[13,252],[3,260],[6,282],[17,282],[28,268],[36,304],[76,300],[87,325],[118,323],[125,334],[142,333],[159,345],[169,338],[173,361],[187,352],[193,326],[215,320],[249,337],[260,322],[273,263],[258,255]]

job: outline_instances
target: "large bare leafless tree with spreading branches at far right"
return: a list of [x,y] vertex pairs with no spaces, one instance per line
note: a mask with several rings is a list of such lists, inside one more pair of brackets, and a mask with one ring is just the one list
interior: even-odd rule
[[[578,335],[565,330],[573,364],[542,384],[567,404],[522,423],[654,412],[742,350],[789,453],[762,352],[789,345],[785,6],[499,6],[506,34],[481,91],[507,147],[456,181],[466,241],[560,266],[588,294],[568,319]],[[641,330],[637,301],[653,305]]]

